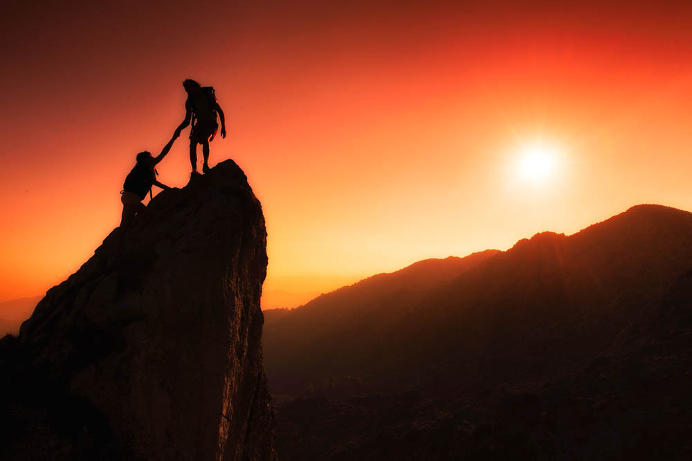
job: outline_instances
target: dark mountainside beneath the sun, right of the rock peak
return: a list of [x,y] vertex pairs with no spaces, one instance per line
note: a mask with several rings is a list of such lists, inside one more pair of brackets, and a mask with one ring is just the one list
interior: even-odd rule
[[524,239],[437,284],[364,281],[320,297],[265,328],[284,402],[277,450],[689,458],[691,267],[692,214],[641,205],[572,236]]

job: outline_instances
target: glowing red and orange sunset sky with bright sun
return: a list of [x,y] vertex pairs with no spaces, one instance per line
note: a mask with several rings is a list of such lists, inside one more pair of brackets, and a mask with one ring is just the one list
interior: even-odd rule
[[[262,201],[264,307],[639,203],[692,209],[692,2],[456,3],[15,2],[0,301],[60,283],[118,225],[187,77],[226,113],[210,163],[233,158]],[[188,135],[167,185],[188,181]]]

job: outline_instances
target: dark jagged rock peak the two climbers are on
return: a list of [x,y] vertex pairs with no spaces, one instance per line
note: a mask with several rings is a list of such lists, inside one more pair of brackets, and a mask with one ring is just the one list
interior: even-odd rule
[[149,209],[120,252],[114,232],[3,339],[5,394],[30,395],[0,408],[19,427],[0,455],[276,458],[259,201],[227,160]]

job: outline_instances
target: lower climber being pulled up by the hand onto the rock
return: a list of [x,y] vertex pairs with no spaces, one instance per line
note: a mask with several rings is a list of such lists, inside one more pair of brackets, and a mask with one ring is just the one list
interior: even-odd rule
[[[171,189],[165,184],[156,180],[156,164],[161,162],[166,154],[171,150],[173,142],[180,136],[180,131],[176,130],[173,138],[166,144],[161,153],[156,157],[152,157],[149,151],[143,151],[137,154],[137,164],[128,173],[125,178],[125,184],[122,185],[122,218],[120,218],[120,236],[125,234],[125,230],[132,223],[134,217],[142,212],[147,211],[146,205],[142,200],[147,196],[147,192],[152,194],[152,186],[161,187],[161,189]],[[153,196],[152,196],[153,198]]]

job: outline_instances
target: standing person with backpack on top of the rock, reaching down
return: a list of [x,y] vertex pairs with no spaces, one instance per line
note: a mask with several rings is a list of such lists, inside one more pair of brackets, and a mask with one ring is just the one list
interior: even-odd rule
[[216,100],[212,86],[201,86],[192,79],[183,82],[183,88],[188,92],[188,100],[185,101],[185,120],[178,126],[176,133],[183,131],[190,121],[190,164],[192,175],[197,174],[197,144],[202,144],[204,163],[202,171],[209,171],[209,142],[214,139],[219,124],[217,113],[221,119],[221,138],[226,138],[226,119],[224,111]]

